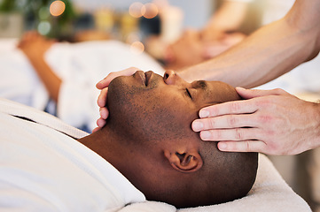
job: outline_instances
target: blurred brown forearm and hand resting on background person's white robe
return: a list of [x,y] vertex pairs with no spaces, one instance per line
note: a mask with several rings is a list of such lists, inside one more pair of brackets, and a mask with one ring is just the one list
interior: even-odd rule
[[46,40],[42,35],[36,32],[24,34],[20,40],[18,48],[21,49],[30,63],[34,66],[35,72],[43,81],[51,99],[55,102],[59,100],[59,89],[62,80],[51,70],[51,67],[44,59],[45,52],[55,41]]

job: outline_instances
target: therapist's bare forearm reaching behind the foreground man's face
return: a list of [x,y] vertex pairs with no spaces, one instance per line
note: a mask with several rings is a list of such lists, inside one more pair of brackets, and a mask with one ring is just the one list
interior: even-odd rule
[[[235,87],[256,87],[315,57],[320,16],[310,8],[312,5],[303,1],[296,4],[285,19],[262,27],[222,55],[186,68],[179,75],[189,81],[222,80]],[[319,9],[316,0],[313,4]],[[301,17],[302,10],[311,13]]]

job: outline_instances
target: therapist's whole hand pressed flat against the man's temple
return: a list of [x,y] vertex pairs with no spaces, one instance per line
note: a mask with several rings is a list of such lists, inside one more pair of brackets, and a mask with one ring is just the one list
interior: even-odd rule
[[218,143],[222,151],[267,155],[296,155],[319,146],[320,104],[282,89],[237,87],[237,91],[246,100],[199,111],[202,118],[192,123],[192,129],[201,131],[202,140],[222,140]]

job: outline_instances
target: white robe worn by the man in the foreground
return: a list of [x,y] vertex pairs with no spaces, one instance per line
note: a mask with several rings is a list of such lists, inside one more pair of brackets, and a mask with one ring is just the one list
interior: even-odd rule
[[105,212],[145,201],[77,140],[3,112],[0,120],[0,211]]

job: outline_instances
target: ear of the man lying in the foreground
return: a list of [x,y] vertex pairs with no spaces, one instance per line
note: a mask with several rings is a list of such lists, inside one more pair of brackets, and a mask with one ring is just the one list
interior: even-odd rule
[[202,167],[203,161],[199,152],[191,149],[185,152],[170,152],[168,149],[164,150],[164,155],[168,159],[171,166],[182,172],[194,172]]

